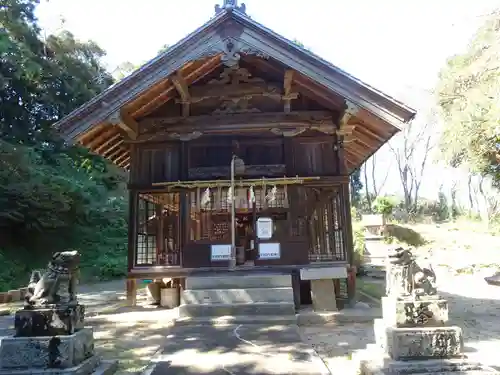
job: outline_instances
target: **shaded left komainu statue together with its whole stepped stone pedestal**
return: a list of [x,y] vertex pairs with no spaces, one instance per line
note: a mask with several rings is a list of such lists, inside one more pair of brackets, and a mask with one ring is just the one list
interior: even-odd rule
[[55,253],[47,270],[34,271],[24,308],[14,319],[15,335],[0,340],[0,375],[112,374],[116,361],[94,352],[92,328],[84,327],[85,307],[76,285],[80,254]]

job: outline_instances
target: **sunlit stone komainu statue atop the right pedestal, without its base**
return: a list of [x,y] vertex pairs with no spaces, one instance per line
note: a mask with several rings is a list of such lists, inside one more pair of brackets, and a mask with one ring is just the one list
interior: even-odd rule
[[437,295],[436,274],[429,264],[421,266],[411,250],[397,248],[389,255],[387,294],[423,297]]

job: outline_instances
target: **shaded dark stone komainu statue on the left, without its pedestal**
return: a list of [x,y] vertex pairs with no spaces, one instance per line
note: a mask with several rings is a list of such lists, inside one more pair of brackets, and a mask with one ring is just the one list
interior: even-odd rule
[[76,304],[79,263],[78,251],[54,253],[45,273],[33,271],[31,274],[26,295],[27,306],[61,303],[61,285],[67,285],[68,299],[65,302]]

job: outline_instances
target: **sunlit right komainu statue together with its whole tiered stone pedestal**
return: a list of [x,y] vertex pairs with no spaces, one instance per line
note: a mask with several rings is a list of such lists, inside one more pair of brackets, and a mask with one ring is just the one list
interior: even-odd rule
[[361,375],[499,374],[467,361],[462,329],[448,325],[448,302],[438,295],[432,266],[398,248],[386,267],[383,317],[374,321],[375,345],[359,354]]

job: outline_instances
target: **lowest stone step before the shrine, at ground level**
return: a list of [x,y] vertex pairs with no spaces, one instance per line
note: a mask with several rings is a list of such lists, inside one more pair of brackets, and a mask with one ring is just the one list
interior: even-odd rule
[[184,317],[176,319],[174,324],[176,326],[189,326],[189,325],[238,325],[238,324],[269,324],[269,325],[291,325],[297,324],[297,317],[295,315],[281,315],[281,316],[268,316],[268,315],[253,315],[253,316],[222,316],[222,317],[201,317],[191,318]]

